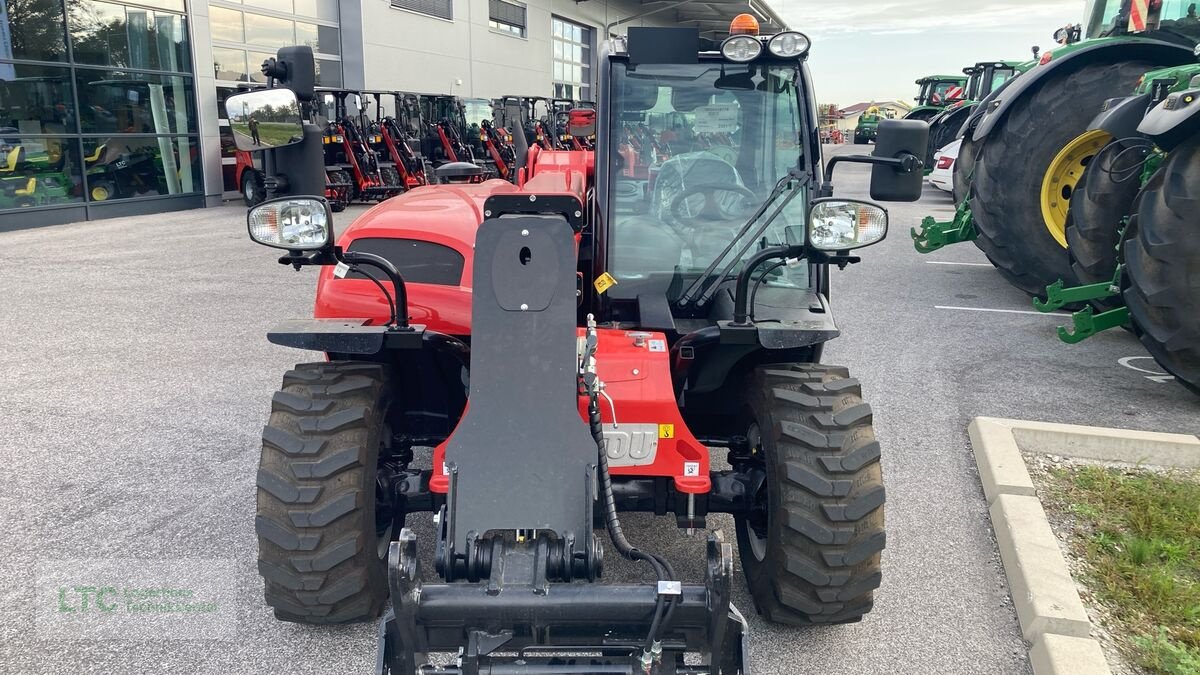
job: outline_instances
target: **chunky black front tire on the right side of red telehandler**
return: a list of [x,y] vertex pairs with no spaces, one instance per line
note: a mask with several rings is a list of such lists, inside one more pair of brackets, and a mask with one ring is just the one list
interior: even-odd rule
[[859,621],[884,545],[880,444],[862,387],[844,368],[762,366],[746,400],[766,508],[736,525],[758,613],[793,626]]

